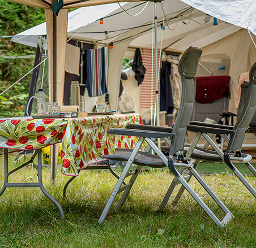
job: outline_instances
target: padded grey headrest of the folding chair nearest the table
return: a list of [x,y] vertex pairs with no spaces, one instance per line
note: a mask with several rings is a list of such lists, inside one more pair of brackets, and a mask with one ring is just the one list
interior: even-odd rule
[[198,60],[202,54],[202,50],[190,46],[184,54],[182,54],[180,63],[178,64],[178,72],[186,79],[192,79],[197,72]]

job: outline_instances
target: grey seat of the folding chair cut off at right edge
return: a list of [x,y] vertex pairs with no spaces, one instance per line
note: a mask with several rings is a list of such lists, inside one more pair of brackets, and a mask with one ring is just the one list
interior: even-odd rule
[[[185,153],[187,150],[189,150],[190,145],[185,144],[184,145],[184,151]],[[216,153],[216,151],[205,149],[199,146],[195,146],[195,149],[193,150],[193,153],[191,154],[191,158],[195,159],[202,159],[207,161],[214,161],[214,162],[220,162],[223,161],[219,154]]]

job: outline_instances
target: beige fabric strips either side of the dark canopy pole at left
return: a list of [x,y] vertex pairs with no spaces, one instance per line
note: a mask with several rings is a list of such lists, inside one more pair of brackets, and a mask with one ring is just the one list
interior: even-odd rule
[[[53,101],[53,12],[45,10],[48,55],[49,55],[49,101]],[[59,11],[57,16],[57,89],[64,88],[65,60],[67,37],[67,10]],[[56,101],[59,105],[63,102],[63,90],[57,90]]]

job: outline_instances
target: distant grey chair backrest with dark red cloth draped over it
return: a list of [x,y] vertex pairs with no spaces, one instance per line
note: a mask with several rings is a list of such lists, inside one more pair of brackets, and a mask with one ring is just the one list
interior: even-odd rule
[[[228,88],[225,85],[228,85]],[[229,97],[225,97],[224,95],[225,91],[228,90],[229,92],[230,85],[231,77],[229,76],[197,77],[196,99],[197,95],[199,95],[203,100],[202,93],[204,93],[204,90],[208,98],[206,98],[206,101],[203,103],[195,100],[191,120],[204,121],[206,118],[211,118],[219,123],[222,118],[220,113],[228,111]],[[223,95],[223,97],[220,99],[214,99],[213,97],[215,97],[215,95],[209,97],[208,93],[209,91],[212,91],[212,88],[216,88],[220,92],[220,95],[217,95],[217,98],[221,97],[221,95]],[[213,92],[213,94],[216,94],[216,92]]]

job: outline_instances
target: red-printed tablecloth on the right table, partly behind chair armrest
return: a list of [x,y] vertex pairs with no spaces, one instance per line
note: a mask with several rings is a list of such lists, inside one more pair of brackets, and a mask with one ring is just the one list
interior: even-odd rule
[[62,173],[77,176],[78,169],[101,161],[101,155],[113,154],[117,147],[133,149],[136,137],[108,133],[126,124],[142,124],[142,119],[135,113],[68,119],[61,148]]

